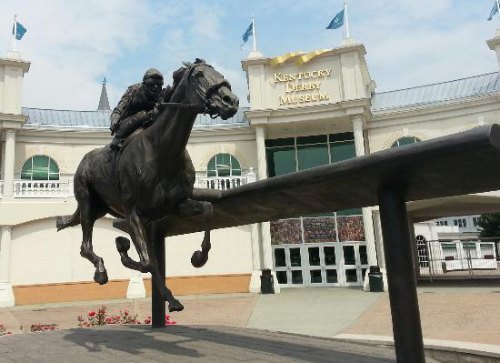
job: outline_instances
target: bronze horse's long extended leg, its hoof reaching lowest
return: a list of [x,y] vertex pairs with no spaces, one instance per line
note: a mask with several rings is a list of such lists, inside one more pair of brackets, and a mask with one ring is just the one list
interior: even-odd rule
[[[174,298],[172,292],[165,286],[165,276],[162,276],[160,273],[156,256],[152,253],[153,239],[156,243],[165,243],[163,237],[161,239],[157,238],[155,235],[156,231],[154,231],[153,228],[150,229],[148,236],[144,223],[135,210],[132,211],[129,216],[129,225],[130,236],[132,237],[132,241],[134,242],[135,248],[137,249],[137,253],[139,254],[139,258],[141,260],[139,264],[144,266],[148,272],[151,272],[153,283],[160,291],[163,300],[168,302],[168,310],[182,311],[184,306],[179,302],[179,300]],[[165,256],[162,257],[165,258]]]

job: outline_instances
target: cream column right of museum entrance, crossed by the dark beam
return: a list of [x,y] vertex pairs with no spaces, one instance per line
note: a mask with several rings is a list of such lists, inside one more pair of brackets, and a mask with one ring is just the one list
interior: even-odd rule
[[[365,138],[363,135],[363,118],[361,116],[354,116],[352,120],[354,131],[354,147],[356,149],[356,156],[363,156],[365,152]],[[365,232],[366,253],[368,255],[368,265],[377,266],[377,252],[375,248],[375,234],[373,227],[372,209],[365,207],[363,211],[363,227]],[[368,291],[368,274],[364,276],[363,289]]]

